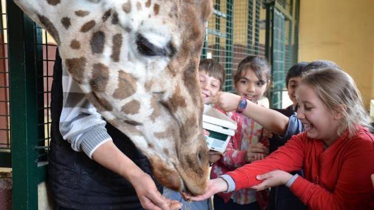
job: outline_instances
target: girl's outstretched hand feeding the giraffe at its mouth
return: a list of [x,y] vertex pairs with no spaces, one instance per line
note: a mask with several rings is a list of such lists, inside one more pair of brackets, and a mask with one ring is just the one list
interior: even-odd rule
[[216,178],[208,181],[208,190],[204,194],[192,196],[182,192],[182,196],[189,201],[203,201],[212,197],[216,193],[227,191],[227,188],[228,186],[226,181],[224,181],[222,178]]

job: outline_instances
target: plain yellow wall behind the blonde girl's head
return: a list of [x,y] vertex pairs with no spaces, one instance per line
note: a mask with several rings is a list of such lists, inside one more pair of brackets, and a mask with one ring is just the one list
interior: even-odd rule
[[299,61],[328,59],[374,99],[374,0],[301,0]]

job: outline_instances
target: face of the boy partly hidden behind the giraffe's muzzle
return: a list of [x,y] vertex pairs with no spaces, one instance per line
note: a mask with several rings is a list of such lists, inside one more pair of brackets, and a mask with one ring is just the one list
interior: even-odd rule
[[210,77],[206,71],[199,71],[201,97],[204,104],[208,103],[210,97],[217,95],[221,83],[214,77]]

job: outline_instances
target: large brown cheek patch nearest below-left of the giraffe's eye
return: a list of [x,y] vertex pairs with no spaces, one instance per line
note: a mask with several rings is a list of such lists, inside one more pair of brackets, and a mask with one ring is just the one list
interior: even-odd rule
[[118,88],[114,91],[115,99],[126,99],[136,93],[136,80],[124,71],[118,72]]

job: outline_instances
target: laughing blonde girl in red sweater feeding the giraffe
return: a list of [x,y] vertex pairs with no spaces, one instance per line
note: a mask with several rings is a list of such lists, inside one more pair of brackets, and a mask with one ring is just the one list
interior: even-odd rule
[[[264,160],[209,181],[204,195],[286,185],[310,209],[374,209],[374,137],[353,79],[328,68],[309,71],[297,90],[306,132]],[[305,178],[288,172],[303,169]]]

